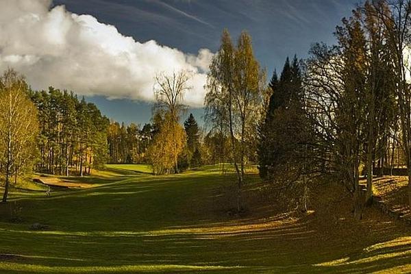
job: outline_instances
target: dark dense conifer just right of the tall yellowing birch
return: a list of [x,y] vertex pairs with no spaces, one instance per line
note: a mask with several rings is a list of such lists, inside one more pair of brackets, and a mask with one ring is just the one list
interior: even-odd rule
[[277,190],[292,195],[302,190],[301,206],[306,211],[307,166],[310,166],[306,155],[312,140],[301,80],[296,56],[292,63],[286,59],[279,79],[277,73],[273,74],[269,84],[272,95],[259,128],[258,159],[260,176],[277,186]]

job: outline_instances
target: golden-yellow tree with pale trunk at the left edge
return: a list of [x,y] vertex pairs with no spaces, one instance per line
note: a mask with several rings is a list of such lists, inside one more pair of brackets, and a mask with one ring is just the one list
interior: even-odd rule
[[24,78],[9,69],[0,77],[0,170],[5,179],[3,203],[8,199],[10,179],[35,158],[38,132],[37,110],[27,96]]

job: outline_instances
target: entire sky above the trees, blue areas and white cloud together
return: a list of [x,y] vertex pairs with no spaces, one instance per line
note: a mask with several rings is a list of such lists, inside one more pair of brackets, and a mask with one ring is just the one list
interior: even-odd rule
[[119,122],[151,118],[154,76],[192,72],[185,103],[201,123],[206,73],[227,28],[245,29],[269,77],[306,58],[358,0],[2,0],[0,69],[35,89],[73,90]]

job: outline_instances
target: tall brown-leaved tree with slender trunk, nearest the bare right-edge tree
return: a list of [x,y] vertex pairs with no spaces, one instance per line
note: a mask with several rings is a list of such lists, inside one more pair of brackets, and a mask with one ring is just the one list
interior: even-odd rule
[[395,124],[397,115],[395,106],[395,74],[391,51],[386,42],[387,29],[369,1],[364,7],[353,12],[362,24],[366,40],[366,86],[364,90],[364,108],[366,135],[364,162],[366,166],[367,192],[366,203],[373,198],[373,166],[376,158],[386,158],[386,142],[390,128]]

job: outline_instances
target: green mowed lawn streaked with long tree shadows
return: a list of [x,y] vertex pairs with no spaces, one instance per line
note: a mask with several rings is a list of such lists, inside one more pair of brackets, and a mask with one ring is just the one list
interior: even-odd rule
[[[360,222],[327,214],[339,207],[331,198],[301,219],[261,202],[236,216],[225,195],[235,177],[215,167],[155,177],[109,165],[85,180],[98,185],[14,190],[0,205],[0,273],[411,272],[410,227],[372,208]],[[258,175],[247,182],[259,191]]]

